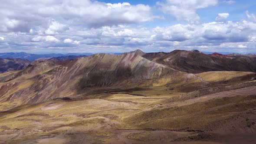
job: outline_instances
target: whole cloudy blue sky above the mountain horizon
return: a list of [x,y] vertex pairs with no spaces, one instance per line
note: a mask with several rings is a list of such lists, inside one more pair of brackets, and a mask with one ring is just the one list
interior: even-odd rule
[[255,0],[0,0],[0,53],[256,53]]

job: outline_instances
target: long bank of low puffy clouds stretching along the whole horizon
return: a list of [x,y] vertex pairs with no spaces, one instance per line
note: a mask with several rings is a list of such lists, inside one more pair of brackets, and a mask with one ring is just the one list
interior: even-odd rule
[[155,28],[126,25],[103,26],[97,29],[69,27],[67,31],[54,36],[30,33],[0,35],[4,38],[0,44],[1,50],[8,46],[12,46],[12,49],[42,49],[47,52],[59,52],[59,49],[65,49],[66,52],[82,52],[85,49],[90,52],[124,52],[138,48],[144,51],[167,52],[194,48],[201,51],[235,51],[242,48],[256,50],[256,22],[250,20],[201,25],[176,24]]

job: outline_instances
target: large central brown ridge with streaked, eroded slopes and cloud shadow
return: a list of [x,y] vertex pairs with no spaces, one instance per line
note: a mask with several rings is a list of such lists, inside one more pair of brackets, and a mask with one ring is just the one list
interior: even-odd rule
[[[33,65],[36,63],[35,65]],[[193,85],[190,85],[193,83]],[[144,59],[138,54],[95,54],[63,64],[33,62],[12,79],[0,83],[2,108],[37,103],[58,97],[105,92],[108,88],[169,85],[177,91],[194,91],[205,82],[185,72]]]

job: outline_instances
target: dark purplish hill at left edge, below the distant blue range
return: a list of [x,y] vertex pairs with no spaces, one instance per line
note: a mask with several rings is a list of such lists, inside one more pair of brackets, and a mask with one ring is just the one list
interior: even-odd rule
[[0,73],[12,70],[25,69],[29,65],[29,63],[30,61],[26,59],[0,59]]

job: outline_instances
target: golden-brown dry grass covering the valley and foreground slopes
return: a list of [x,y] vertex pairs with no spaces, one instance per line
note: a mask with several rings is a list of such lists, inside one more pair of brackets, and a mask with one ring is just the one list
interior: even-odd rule
[[[198,76],[206,81],[216,82],[250,74],[252,73],[205,72]],[[190,81],[186,82],[187,79]],[[205,84],[195,77],[181,77],[181,79],[172,79],[171,81],[174,83],[167,83],[164,86],[97,93],[88,97],[81,96],[80,99],[71,101],[50,100],[13,108],[9,113],[0,113],[0,143],[1,137],[6,138],[5,143],[18,143],[20,141],[31,142],[35,139],[38,142],[41,141],[39,137],[45,138],[43,142],[51,141],[53,137],[62,137],[60,139],[65,141],[75,141],[75,139],[82,140],[85,135],[86,138],[83,142],[87,143],[111,143],[112,139],[118,138],[120,141],[147,142],[157,134],[161,138],[154,137],[156,142],[169,142],[179,137],[189,136],[186,130],[191,129],[225,133],[235,130],[248,132],[255,128],[253,122],[256,119],[254,112],[256,97],[254,95],[230,95],[228,98],[218,98],[219,94],[216,94],[216,98],[205,101],[202,100],[205,99],[202,97],[201,99],[163,104],[161,101],[184,93],[179,92],[182,88],[191,88],[192,90]],[[159,82],[165,81],[161,79]],[[26,81],[7,94],[10,95],[32,84],[33,81]],[[70,92],[69,95],[74,93]],[[0,107],[13,107],[21,104],[21,100],[15,101],[15,103],[8,101],[1,103]],[[54,105],[59,105],[59,107],[53,108]],[[248,121],[241,120],[247,117]],[[240,124],[241,121],[243,121],[242,124]],[[223,127],[223,125],[227,126]],[[142,128],[153,128],[156,129],[154,130],[156,132],[134,130]],[[127,132],[119,129],[133,130]],[[173,135],[173,133],[169,133],[170,131],[161,133],[158,129],[185,132]],[[10,136],[6,137],[6,134]],[[163,134],[167,134],[167,139],[162,137]],[[37,140],[38,138],[39,140]],[[60,139],[57,138],[54,141],[57,143]]]

